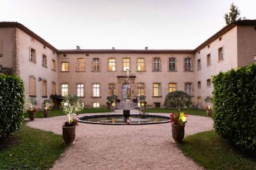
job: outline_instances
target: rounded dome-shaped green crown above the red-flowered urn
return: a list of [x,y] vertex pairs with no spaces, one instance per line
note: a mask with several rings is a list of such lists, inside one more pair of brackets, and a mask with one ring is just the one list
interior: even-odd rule
[[181,111],[182,108],[190,107],[191,97],[187,93],[182,91],[170,92],[165,96],[165,102],[163,106],[173,107]]

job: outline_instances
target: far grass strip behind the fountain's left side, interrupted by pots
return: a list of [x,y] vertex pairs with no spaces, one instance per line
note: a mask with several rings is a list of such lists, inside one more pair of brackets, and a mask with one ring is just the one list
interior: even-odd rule
[[[84,108],[82,111],[79,111],[79,113],[104,113],[109,111],[110,110],[108,108]],[[49,113],[49,117],[53,117],[57,115],[65,115],[65,113],[63,113],[62,109],[53,109]],[[28,114],[24,113],[24,117],[27,118]],[[44,118],[44,111],[38,111],[35,117]]]

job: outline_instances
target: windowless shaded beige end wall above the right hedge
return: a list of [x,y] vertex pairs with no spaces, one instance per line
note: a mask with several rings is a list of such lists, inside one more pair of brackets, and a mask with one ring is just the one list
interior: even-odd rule
[[248,66],[254,63],[253,55],[256,54],[256,30],[255,26],[237,27],[238,66]]

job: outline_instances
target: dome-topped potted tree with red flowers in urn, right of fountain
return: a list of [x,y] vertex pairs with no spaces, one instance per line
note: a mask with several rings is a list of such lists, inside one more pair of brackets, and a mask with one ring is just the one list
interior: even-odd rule
[[176,143],[182,142],[185,133],[186,114],[182,113],[183,108],[190,107],[191,97],[182,91],[170,92],[165,97],[165,107],[176,108],[177,113],[170,114],[172,124],[172,138]]

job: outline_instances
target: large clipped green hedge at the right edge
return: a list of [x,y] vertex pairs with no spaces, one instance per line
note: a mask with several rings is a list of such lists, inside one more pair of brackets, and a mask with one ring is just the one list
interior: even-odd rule
[[256,151],[256,64],[219,73],[214,83],[214,128],[233,144]]

